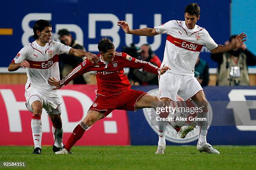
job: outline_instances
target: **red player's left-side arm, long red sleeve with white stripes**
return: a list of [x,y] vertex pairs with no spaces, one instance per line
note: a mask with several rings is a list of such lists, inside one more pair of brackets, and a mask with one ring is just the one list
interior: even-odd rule
[[81,76],[85,72],[91,71],[92,70],[91,66],[94,66],[92,64],[92,62],[87,61],[87,59],[85,59],[83,62],[81,62],[79,65],[77,65],[77,67],[75,67],[71,72],[69,72],[66,75],[66,77],[64,77],[62,80],[57,80],[54,77],[50,77],[48,79],[48,83],[49,83],[49,85],[56,86],[53,90],[59,89],[59,88],[63,87],[64,85],[67,85],[71,80],[74,80],[76,77]]

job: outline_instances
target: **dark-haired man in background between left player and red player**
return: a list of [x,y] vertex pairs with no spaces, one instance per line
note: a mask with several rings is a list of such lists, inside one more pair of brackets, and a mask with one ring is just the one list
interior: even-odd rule
[[[61,43],[68,45],[74,49],[86,51],[84,46],[80,42],[74,40],[74,38],[67,29],[59,30],[58,35]],[[79,65],[79,63],[81,63],[84,59],[85,57],[79,58],[68,54],[61,54],[59,57],[60,78],[62,79],[62,77],[65,77],[71,70],[74,69],[74,67]],[[83,75],[75,78],[73,80],[73,84],[86,84]]]

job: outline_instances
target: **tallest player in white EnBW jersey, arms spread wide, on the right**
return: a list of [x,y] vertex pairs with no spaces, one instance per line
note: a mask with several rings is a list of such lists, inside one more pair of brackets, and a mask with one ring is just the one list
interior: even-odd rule
[[[203,112],[197,117],[205,117],[207,121],[197,122],[200,133],[198,137],[197,150],[200,152],[219,154],[218,150],[212,148],[207,143],[206,135],[208,128],[208,107],[205,94],[201,85],[194,77],[194,67],[197,57],[205,45],[212,53],[225,52],[237,47],[246,41],[246,34],[241,33],[236,37],[236,41],[229,45],[218,45],[205,28],[196,25],[200,19],[200,7],[197,3],[187,5],[184,11],[185,21],[170,20],[163,25],[154,28],[141,28],[131,30],[128,23],[118,21],[118,25],[127,34],[155,36],[167,34],[162,65],[168,65],[171,70],[159,78],[159,93],[165,105],[170,106],[171,100],[176,99],[178,94],[184,100],[192,98],[199,107],[204,107]],[[159,143],[156,153],[164,153],[165,150],[165,130],[167,123],[159,123]],[[194,126],[184,126],[179,131],[179,136],[185,138]],[[177,130],[178,131],[178,130]]]

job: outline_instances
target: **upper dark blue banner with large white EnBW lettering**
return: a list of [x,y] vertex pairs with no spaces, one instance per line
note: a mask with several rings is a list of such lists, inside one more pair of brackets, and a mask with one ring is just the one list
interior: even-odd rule
[[[161,25],[169,20],[184,20],[184,8],[194,1],[154,1],[154,0],[30,0],[3,1],[0,6],[2,16],[0,26],[1,62],[0,67],[8,67],[18,51],[33,41],[33,24],[36,20],[51,21],[53,39],[56,33],[67,28],[81,42],[86,50],[97,53],[97,43],[101,37],[113,40],[117,51],[132,42],[136,46],[149,43],[152,50],[162,60],[166,35],[143,37],[125,35],[116,25],[118,20],[126,20],[131,28]],[[223,44],[230,35],[230,1],[197,0],[201,17],[197,22],[206,28],[218,44]],[[210,53],[202,48],[202,58],[210,67],[216,67],[210,60]]]

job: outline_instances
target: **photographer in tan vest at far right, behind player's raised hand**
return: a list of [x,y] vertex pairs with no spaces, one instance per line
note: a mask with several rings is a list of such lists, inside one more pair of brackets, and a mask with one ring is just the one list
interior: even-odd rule
[[[234,42],[236,36],[232,35],[225,45]],[[256,57],[244,43],[228,52],[211,54],[211,58],[218,62],[217,85],[250,85],[248,65],[256,65]]]

